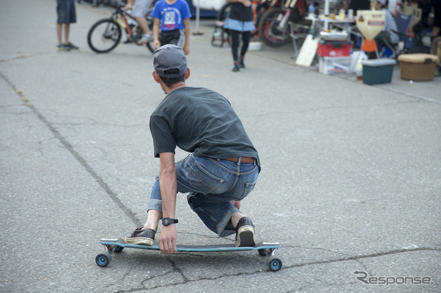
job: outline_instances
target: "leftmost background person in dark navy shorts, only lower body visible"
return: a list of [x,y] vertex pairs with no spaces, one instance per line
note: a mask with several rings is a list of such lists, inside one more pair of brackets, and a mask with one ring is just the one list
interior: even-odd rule
[[75,0],[57,0],[57,50],[59,51],[79,49],[69,41],[70,23],[76,23]]

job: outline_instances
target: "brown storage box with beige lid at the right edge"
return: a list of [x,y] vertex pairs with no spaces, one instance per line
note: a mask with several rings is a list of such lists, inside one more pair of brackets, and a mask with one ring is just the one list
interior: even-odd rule
[[433,79],[436,63],[440,59],[431,54],[401,54],[398,61],[401,79],[420,81]]

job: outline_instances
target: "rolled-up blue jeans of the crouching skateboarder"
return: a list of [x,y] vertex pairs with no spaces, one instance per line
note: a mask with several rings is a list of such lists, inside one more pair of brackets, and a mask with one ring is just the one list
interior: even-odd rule
[[[258,177],[256,161],[240,163],[240,158],[238,162],[232,162],[190,154],[175,165],[178,192],[189,193],[188,204],[205,226],[219,237],[234,234],[236,230],[229,220],[238,209],[230,201],[240,201],[253,190]],[[158,176],[147,212],[152,209],[163,212]]]

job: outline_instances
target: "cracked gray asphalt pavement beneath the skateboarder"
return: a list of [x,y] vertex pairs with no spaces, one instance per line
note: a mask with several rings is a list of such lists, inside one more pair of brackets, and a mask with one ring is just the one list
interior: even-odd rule
[[[108,8],[76,6],[80,50],[67,53],[55,50],[54,1],[0,8],[1,292],[441,291],[440,78],[409,83],[397,65],[392,83],[364,85],[294,65],[289,44],[249,52],[233,73],[202,20],[187,85],[219,91],[242,118],[263,166],[243,210],[258,239],[282,243],[283,268],[269,272],[254,252],[130,249],[100,268],[99,239],[145,221],[158,171],[152,54],[88,48]],[[176,217],[181,244],[234,241],[209,232],[184,195]]]

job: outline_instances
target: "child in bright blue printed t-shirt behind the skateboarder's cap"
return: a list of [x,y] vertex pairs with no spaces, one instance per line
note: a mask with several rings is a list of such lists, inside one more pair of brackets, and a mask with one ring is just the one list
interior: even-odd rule
[[[153,40],[155,50],[165,44],[183,47],[189,54],[190,13],[185,0],[161,0],[152,12]],[[161,34],[159,30],[161,29]],[[184,45],[183,45],[184,44]]]

